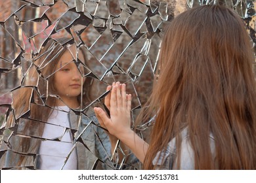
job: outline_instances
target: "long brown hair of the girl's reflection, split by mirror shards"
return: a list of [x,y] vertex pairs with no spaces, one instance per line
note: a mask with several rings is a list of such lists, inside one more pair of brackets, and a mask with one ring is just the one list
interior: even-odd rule
[[[58,46],[56,46],[55,48],[59,49]],[[56,71],[58,61],[60,60],[62,55],[67,51],[69,51],[68,48],[64,46],[64,48],[58,53],[58,56],[56,56],[52,61],[47,63],[47,65],[43,67],[43,70],[40,70],[40,71],[46,71],[45,73],[54,73]],[[48,80],[48,93],[58,95],[58,93],[56,93],[56,90],[54,88],[54,74],[52,76],[49,76],[47,80]],[[91,78],[85,79],[85,83],[83,84],[83,93],[77,96],[77,101],[82,105],[81,108],[85,107],[85,104],[87,104],[86,101],[89,99],[89,92],[87,91],[89,90],[89,87],[87,86],[88,84],[90,84],[90,82],[91,82]],[[28,90],[30,90],[30,88],[28,88]],[[83,97],[81,97],[81,95],[83,95]],[[24,103],[30,103],[30,100],[29,100],[30,92],[26,90],[22,90],[22,92],[19,93],[18,98],[19,99],[17,99],[16,102],[12,104],[13,108],[19,108],[19,107],[22,107]],[[81,103],[81,98],[83,101],[82,103]],[[26,123],[22,128],[22,131],[24,132],[24,134],[28,134],[26,132],[30,131],[29,134],[32,136],[33,134],[39,135],[40,137],[41,135],[43,135],[43,129],[45,127],[43,122],[47,122],[49,116],[51,116],[53,112],[53,107],[56,107],[56,100],[57,100],[56,97],[48,96],[46,105],[49,107],[45,107],[44,111],[41,111],[41,108],[37,107],[37,105],[31,105],[30,117],[41,119],[42,122],[33,124],[33,121],[31,121],[30,123]],[[20,101],[24,101],[24,103],[22,104]],[[28,152],[28,150],[33,150],[38,148],[38,144],[34,144],[33,146],[33,144],[31,144],[31,138],[22,138],[20,141],[20,147],[21,147],[21,151],[26,153]],[[18,165],[21,165],[23,160],[24,160],[24,157],[20,158]]]

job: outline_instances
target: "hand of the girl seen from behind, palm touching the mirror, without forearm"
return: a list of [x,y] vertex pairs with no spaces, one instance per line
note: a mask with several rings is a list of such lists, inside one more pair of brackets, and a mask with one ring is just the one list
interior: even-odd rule
[[[106,99],[105,99],[106,100]],[[125,84],[113,84],[110,95],[110,118],[107,114],[98,107],[95,107],[95,114],[100,122],[100,125],[106,126],[110,134],[117,138],[123,133],[131,130],[131,95],[125,92]]]

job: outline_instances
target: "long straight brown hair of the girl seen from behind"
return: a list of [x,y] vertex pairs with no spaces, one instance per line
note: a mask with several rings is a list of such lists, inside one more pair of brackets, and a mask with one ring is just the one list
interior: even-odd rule
[[154,168],[157,152],[174,137],[180,168],[185,127],[195,169],[255,169],[253,59],[244,23],[229,8],[197,7],[171,22],[161,46],[160,78],[147,103],[146,116],[158,113],[145,169]]

